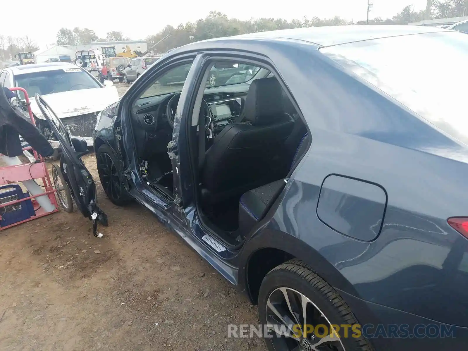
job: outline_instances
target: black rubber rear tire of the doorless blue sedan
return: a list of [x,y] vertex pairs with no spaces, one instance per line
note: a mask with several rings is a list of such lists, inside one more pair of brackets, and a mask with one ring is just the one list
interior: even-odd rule
[[[277,289],[282,287],[292,289],[306,296],[307,299],[312,301],[313,305],[320,310],[322,315],[328,319],[330,324],[337,324],[338,326],[342,324],[358,324],[351,308],[331,285],[315,274],[314,271],[302,261],[291,260],[275,267],[263,278],[258,300],[259,318],[262,325],[268,324],[268,299],[270,296],[273,296],[272,293],[275,291],[278,292]],[[309,304],[307,306],[312,307],[313,305]],[[271,311],[271,309],[269,309],[269,311]],[[345,337],[344,333],[340,331],[338,331],[338,334],[340,336],[339,341],[343,344],[345,351],[374,350],[364,336],[360,335],[356,337],[357,335],[353,333],[351,328],[349,329],[348,337]],[[265,338],[268,349],[270,351],[278,351],[279,349],[275,349],[273,345],[273,340],[274,338]],[[295,340],[293,340],[293,342],[297,343]],[[317,342],[317,339],[315,339],[315,342]],[[337,338],[335,342],[338,342]]]

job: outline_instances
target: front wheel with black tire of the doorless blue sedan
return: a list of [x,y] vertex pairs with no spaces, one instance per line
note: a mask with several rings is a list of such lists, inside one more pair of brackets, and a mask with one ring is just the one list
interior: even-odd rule
[[[112,169],[109,164],[107,164],[106,168],[106,162],[109,161],[112,162],[115,169]],[[101,145],[97,149],[96,164],[99,180],[110,202],[117,206],[124,206],[130,203],[132,198],[125,190],[123,177],[120,174],[121,161],[107,144]],[[111,168],[110,171],[109,168]],[[110,175],[106,173],[110,173]]]

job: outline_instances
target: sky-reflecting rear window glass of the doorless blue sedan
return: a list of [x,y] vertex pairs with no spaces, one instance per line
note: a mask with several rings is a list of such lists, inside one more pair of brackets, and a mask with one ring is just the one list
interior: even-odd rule
[[468,35],[438,32],[320,49],[444,132],[468,144]]

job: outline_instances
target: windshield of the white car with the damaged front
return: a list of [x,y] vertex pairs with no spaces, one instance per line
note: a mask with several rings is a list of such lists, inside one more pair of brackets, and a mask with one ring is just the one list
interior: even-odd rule
[[[66,68],[15,75],[16,87],[26,89],[31,99],[36,93],[47,95],[63,91],[101,88],[99,83],[80,68]],[[24,99],[23,93],[19,92]]]

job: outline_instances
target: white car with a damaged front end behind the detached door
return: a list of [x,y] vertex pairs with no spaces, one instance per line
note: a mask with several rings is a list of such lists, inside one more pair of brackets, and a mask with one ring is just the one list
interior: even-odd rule
[[[88,146],[93,145],[97,115],[119,98],[111,81],[101,84],[83,68],[65,62],[5,68],[0,72],[0,84],[26,89],[36,125],[54,147],[58,147],[59,142],[36,104],[36,93],[44,98],[72,135],[83,137]],[[23,93],[16,93],[12,100],[21,103]]]

